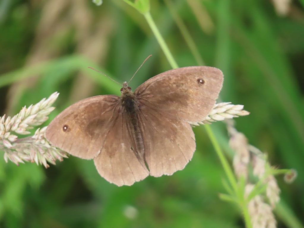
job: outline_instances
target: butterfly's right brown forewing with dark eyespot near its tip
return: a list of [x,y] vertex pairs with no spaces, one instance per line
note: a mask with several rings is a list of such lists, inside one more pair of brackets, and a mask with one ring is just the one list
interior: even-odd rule
[[223,73],[214,67],[183,67],[150,78],[135,90],[141,106],[190,123],[202,121],[215,104]]

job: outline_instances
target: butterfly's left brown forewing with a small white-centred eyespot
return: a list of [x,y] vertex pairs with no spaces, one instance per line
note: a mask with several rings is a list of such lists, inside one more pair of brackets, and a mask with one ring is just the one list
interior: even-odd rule
[[119,97],[95,96],[83,99],[61,112],[47,127],[46,137],[53,146],[74,156],[97,156],[105,135],[113,126]]

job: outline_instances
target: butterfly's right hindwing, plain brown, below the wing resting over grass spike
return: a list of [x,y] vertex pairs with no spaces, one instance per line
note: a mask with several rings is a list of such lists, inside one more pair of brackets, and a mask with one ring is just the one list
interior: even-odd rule
[[155,109],[141,112],[139,120],[150,175],[171,175],[185,168],[195,151],[191,126]]

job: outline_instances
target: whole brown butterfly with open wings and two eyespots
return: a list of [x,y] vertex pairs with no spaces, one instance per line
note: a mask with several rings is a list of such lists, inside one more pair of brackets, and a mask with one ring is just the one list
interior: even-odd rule
[[94,159],[115,185],[182,170],[195,151],[192,125],[205,119],[223,84],[214,67],[183,67],[150,78],[134,92],[83,99],[47,127],[47,140],[76,157]]

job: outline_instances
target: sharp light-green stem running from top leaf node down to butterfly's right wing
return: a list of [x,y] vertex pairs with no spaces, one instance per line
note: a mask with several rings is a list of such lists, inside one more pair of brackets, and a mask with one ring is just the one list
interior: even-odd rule
[[154,20],[152,19],[150,12],[145,13],[143,16],[144,16],[145,19],[147,20],[147,22],[148,22],[148,24],[149,24],[149,26],[150,26],[150,28],[151,28],[151,30],[152,30],[154,36],[155,36],[156,39],[157,39],[157,42],[158,42],[159,45],[161,46],[161,49],[163,50],[163,52],[164,52],[166,58],[168,59],[168,61],[169,61],[170,65],[171,65],[171,67],[172,67],[173,69],[178,68],[177,63],[176,63],[176,61],[174,60],[174,58],[173,58],[173,56],[172,56],[172,54],[171,54],[171,52],[170,52],[170,50],[169,50],[169,48],[168,48],[166,42],[164,41],[164,38],[161,36],[161,33],[159,32],[159,30],[158,30],[158,28],[157,28],[157,26],[156,26]]

